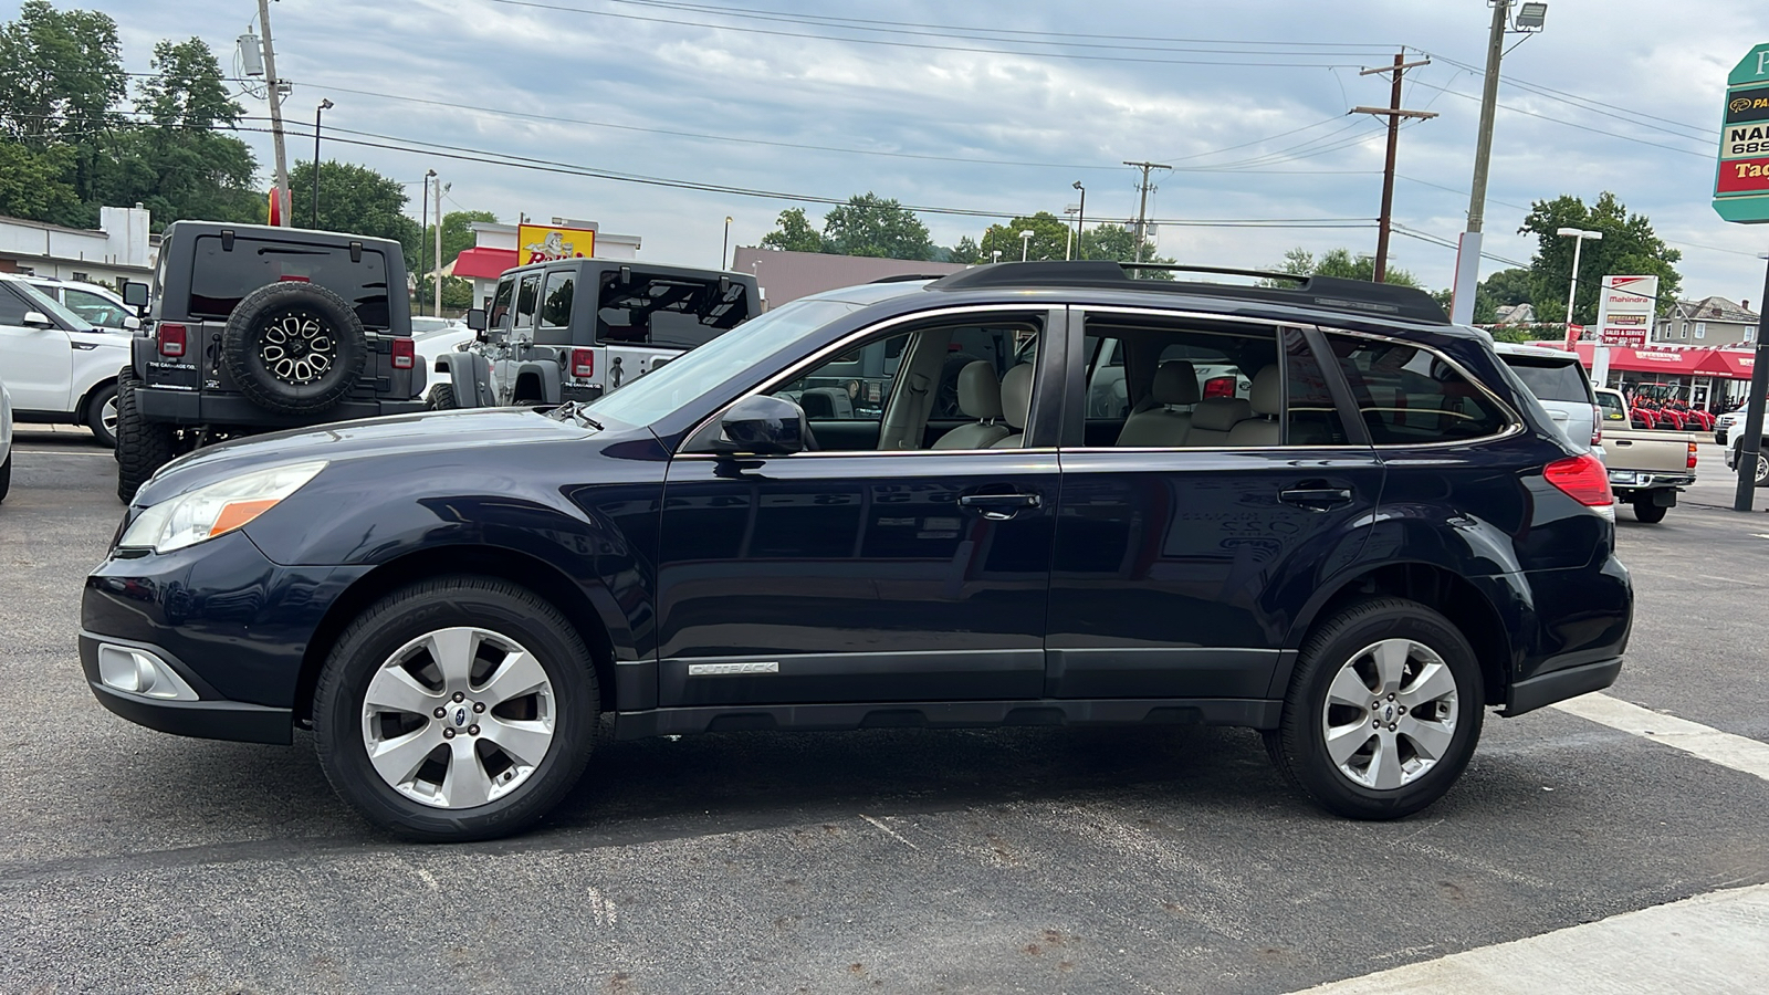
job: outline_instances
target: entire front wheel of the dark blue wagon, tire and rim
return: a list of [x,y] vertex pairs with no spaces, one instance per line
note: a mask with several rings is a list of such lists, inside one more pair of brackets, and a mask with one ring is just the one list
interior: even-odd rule
[[550,602],[490,577],[402,588],[338,639],[313,698],[333,788],[426,841],[508,836],[550,811],[596,742],[582,637]]

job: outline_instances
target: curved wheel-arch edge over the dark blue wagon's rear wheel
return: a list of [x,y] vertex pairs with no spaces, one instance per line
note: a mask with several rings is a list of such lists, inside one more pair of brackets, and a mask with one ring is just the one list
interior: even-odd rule
[[1267,694],[1284,696],[1290,675],[1300,657],[1298,650],[1316,625],[1330,620],[1337,609],[1348,604],[1378,597],[1415,600],[1449,618],[1474,648],[1474,657],[1481,664],[1481,675],[1486,678],[1486,703],[1489,706],[1505,703],[1516,659],[1498,607],[1468,577],[1440,563],[1422,559],[1376,563],[1323,584],[1291,623],[1284,639],[1286,653],[1279,659]]

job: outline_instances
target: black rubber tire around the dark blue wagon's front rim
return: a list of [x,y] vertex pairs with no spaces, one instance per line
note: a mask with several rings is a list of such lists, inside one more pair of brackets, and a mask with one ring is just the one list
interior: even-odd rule
[[[364,721],[364,701],[370,682],[402,648],[430,632],[455,627],[488,630],[518,643],[538,660],[552,687],[554,728],[543,760],[534,763],[532,770],[502,797],[471,807],[449,809],[407,797],[375,770],[364,738],[366,729],[373,728]],[[479,675],[474,680],[485,676],[478,669],[472,673]],[[435,689],[426,690],[426,694],[446,690],[444,683],[433,683]],[[485,685],[469,685],[471,694],[485,690]],[[423,701],[428,706],[432,699],[425,698]],[[435,698],[433,701],[448,705],[455,699]],[[472,705],[472,701],[463,705]],[[502,705],[494,705],[486,715],[497,715],[501,708]],[[448,717],[433,719],[433,715],[416,712],[409,719],[416,724],[403,729],[394,728],[389,735],[425,733],[432,722],[437,726],[437,735],[446,735],[453,731],[455,724]],[[382,719],[377,715],[375,721]],[[479,735],[476,731],[478,721],[467,726],[474,737]],[[440,577],[400,588],[380,598],[340,636],[313,694],[313,737],[320,767],[333,788],[377,827],[396,836],[432,843],[509,836],[545,816],[577,784],[594,749],[600,726],[601,698],[596,669],[584,639],[545,598],[527,588],[492,577]],[[456,738],[460,733],[446,740],[446,745],[432,747],[428,754],[421,754],[430,758],[423,763],[440,765],[442,758],[453,756],[449,751],[455,749]],[[471,740],[469,749],[481,751],[481,744],[494,742],[495,737],[486,731],[486,738]],[[492,747],[485,745],[485,749]],[[483,758],[485,754],[474,752],[474,756]],[[501,758],[494,754],[492,760]],[[481,760],[481,768],[490,772],[492,760]],[[453,770],[453,763],[449,760],[449,770]],[[414,767],[410,774],[414,786],[425,770],[426,767]]]

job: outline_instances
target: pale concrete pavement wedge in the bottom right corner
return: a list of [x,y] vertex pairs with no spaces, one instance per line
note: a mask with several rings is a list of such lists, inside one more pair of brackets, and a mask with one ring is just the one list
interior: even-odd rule
[[1307,995],[1758,995],[1769,977],[1769,885],[1698,894],[1364,977]]

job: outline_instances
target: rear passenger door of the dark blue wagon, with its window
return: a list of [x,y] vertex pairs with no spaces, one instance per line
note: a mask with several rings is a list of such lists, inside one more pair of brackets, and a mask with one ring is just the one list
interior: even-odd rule
[[[1090,361],[1123,356],[1130,418],[1164,428],[1070,405],[1088,418],[1065,423],[1061,448],[1051,698],[1267,696],[1298,609],[1359,558],[1383,482],[1313,335],[1107,308],[1070,322]],[[1093,381],[1077,375],[1074,397]],[[1235,386],[1205,397],[1210,381]]]

